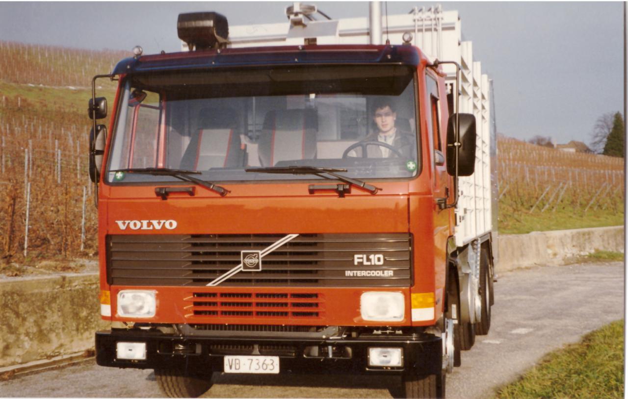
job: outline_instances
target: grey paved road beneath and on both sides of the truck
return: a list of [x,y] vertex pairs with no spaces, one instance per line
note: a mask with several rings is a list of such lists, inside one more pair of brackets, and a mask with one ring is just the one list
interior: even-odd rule
[[[486,398],[544,353],[623,317],[622,263],[516,270],[499,277],[490,333],[462,354],[447,378],[449,398]],[[398,380],[345,376],[215,375],[203,397],[391,398]],[[102,368],[94,361],[0,382],[0,396],[161,396],[149,370]]]

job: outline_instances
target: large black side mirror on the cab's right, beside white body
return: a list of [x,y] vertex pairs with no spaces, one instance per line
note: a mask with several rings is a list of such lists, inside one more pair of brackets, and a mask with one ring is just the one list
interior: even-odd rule
[[[458,152],[458,176],[471,176],[475,169],[475,117],[458,114],[460,120],[460,152]],[[447,122],[447,173],[456,174],[456,114]]]

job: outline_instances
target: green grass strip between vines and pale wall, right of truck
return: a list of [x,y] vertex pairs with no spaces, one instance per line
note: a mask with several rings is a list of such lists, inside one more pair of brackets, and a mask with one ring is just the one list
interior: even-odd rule
[[619,226],[624,224],[623,210],[590,209],[586,214],[582,210],[571,208],[534,211],[514,211],[509,206],[499,207],[499,232],[502,234],[526,234],[531,231],[568,230],[572,228]]

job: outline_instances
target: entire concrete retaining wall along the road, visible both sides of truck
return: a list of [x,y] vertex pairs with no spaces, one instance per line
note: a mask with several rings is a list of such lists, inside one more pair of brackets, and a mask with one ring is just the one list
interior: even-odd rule
[[[497,273],[595,250],[623,252],[623,226],[501,235]],[[0,368],[92,349],[107,328],[98,287],[97,274],[0,281]]]

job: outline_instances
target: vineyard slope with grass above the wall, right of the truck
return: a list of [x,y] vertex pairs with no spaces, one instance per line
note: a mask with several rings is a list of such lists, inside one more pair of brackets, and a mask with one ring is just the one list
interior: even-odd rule
[[624,159],[499,135],[499,231],[622,225]]

